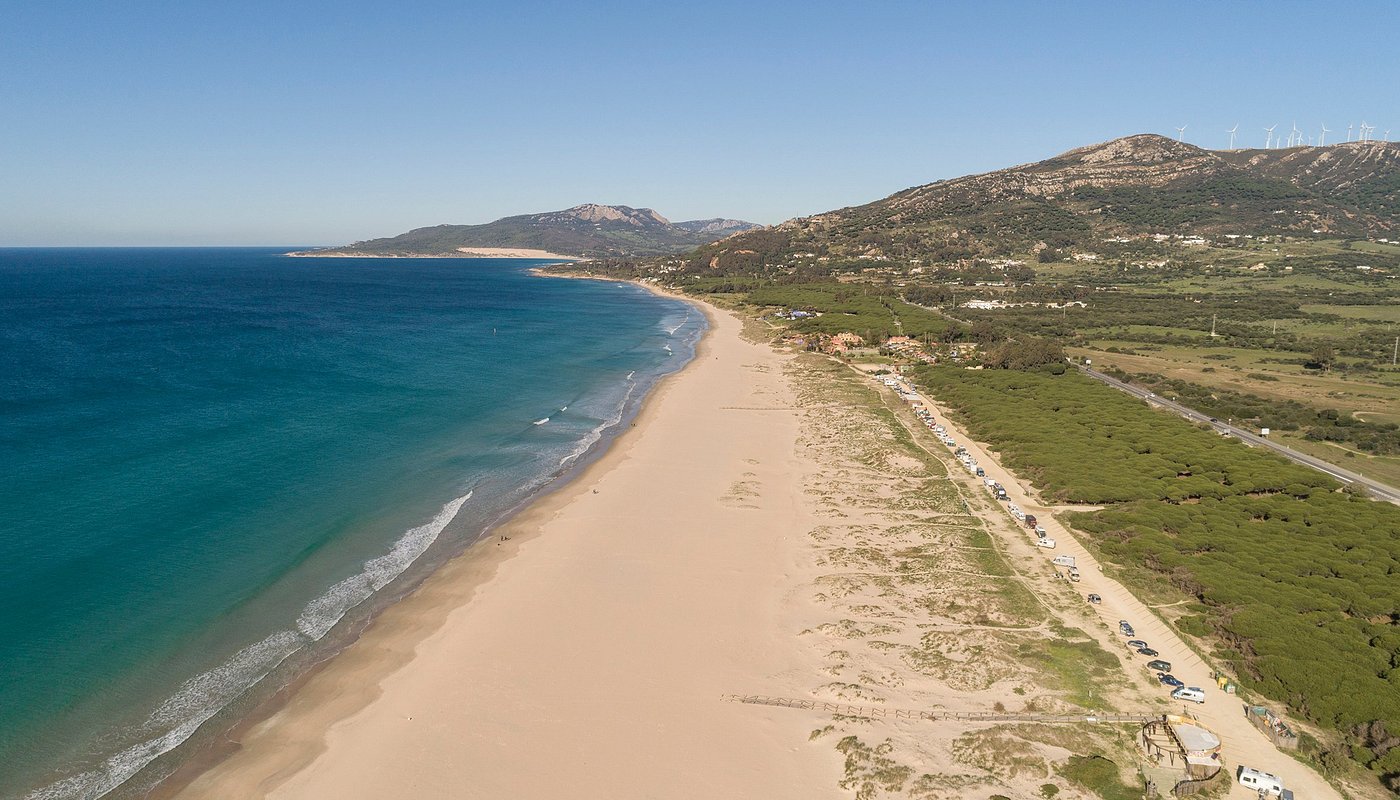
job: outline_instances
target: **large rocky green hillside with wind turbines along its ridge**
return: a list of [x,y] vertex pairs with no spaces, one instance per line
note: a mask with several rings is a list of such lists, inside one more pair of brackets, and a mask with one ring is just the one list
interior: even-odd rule
[[1141,135],[748,231],[686,266],[959,263],[1152,234],[1387,235],[1397,202],[1400,144],[1218,153]]

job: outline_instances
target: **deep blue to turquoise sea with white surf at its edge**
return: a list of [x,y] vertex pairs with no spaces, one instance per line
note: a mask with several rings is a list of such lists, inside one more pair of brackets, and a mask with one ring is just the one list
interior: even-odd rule
[[281,252],[0,249],[0,797],[161,778],[595,455],[704,326],[538,262]]

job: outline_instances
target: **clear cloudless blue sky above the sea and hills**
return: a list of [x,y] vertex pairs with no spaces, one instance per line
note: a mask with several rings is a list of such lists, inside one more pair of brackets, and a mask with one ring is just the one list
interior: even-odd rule
[[[1400,139],[1400,3],[0,0],[0,247],[757,223],[1131,133]],[[1355,136],[1355,133],[1354,133]],[[1340,139],[1338,139],[1340,137]]]

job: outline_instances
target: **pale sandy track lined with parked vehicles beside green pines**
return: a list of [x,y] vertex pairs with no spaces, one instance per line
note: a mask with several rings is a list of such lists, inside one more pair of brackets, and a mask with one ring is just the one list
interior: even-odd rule
[[[1054,549],[1043,551],[1046,562],[1060,553],[1075,556],[1082,576],[1077,588],[1084,595],[1093,593],[1103,597],[1100,605],[1091,608],[1103,619],[1105,625],[1112,628],[1114,636],[1117,636],[1119,619],[1127,619],[1133,625],[1138,639],[1148,642],[1152,649],[1158,650],[1161,653],[1159,658],[1172,663],[1173,675],[1184,681],[1189,687],[1201,687],[1205,689],[1205,703],[1183,703],[1183,708],[1196,715],[1203,724],[1221,737],[1224,755],[1232,778],[1231,797],[1257,800],[1254,792],[1245,789],[1233,780],[1235,768],[1245,765],[1281,776],[1284,785],[1292,789],[1299,797],[1341,800],[1341,794],[1323,780],[1320,775],[1294,761],[1292,757],[1280,752],[1259,729],[1249,723],[1245,717],[1243,703],[1233,695],[1226,695],[1215,688],[1215,681],[1211,680],[1211,668],[1182,642],[1175,630],[1163,623],[1161,618],[1152,614],[1145,604],[1120,583],[1103,574],[1103,570],[1089,551],[1051,516],[1054,507],[1042,503],[1028,483],[1004,469],[991,457],[986,446],[967,436],[967,432],[953,422],[948,416],[946,409],[934,401],[932,396],[927,394],[920,396],[958,444],[966,447],[972,457],[977,460],[977,465],[983,468],[987,476],[1000,482],[1007,489],[1007,495],[1011,497],[1009,502],[1021,506],[1028,514],[1035,514],[1039,524],[1046,528],[1047,535],[1056,539]],[[986,492],[986,489],[980,488],[980,478],[969,476],[962,469],[956,472],[960,474],[963,482],[977,485],[977,490]],[[1022,530],[1025,531],[1025,528]],[[1030,531],[1025,531],[1025,534],[1028,538],[1033,538]],[[1126,636],[1117,637],[1120,640],[1127,639]],[[1133,656],[1133,660],[1144,665],[1138,674],[1133,675],[1134,680],[1151,684],[1154,689],[1161,691],[1163,695],[1170,694],[1166,687],[1156,685],[1152,680],[1152,673],[1147,671],[1145,664],[1149,658]]]

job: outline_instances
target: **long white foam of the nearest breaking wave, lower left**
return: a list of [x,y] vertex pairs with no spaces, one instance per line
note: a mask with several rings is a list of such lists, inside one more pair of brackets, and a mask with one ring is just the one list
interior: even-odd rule
[[66,778],[31,792],[25,800],[95,799],[112,792],[150,762],[178,747],[209,722],[220,709],[258,685],[288,656],[308,642],[321,639],[346,612],[368,600],[375,591],[403,574],[421,556],[472,492],[447,503],[431,521],[409,528],[382,556],[370,559],[358,573],[332,586],[312,600],[297,618],[297,630],[279,630],[256,644],[249,644],[218,667],[196,675],[165,699],[140,733],[148,738],[104,761],[95,769]]

